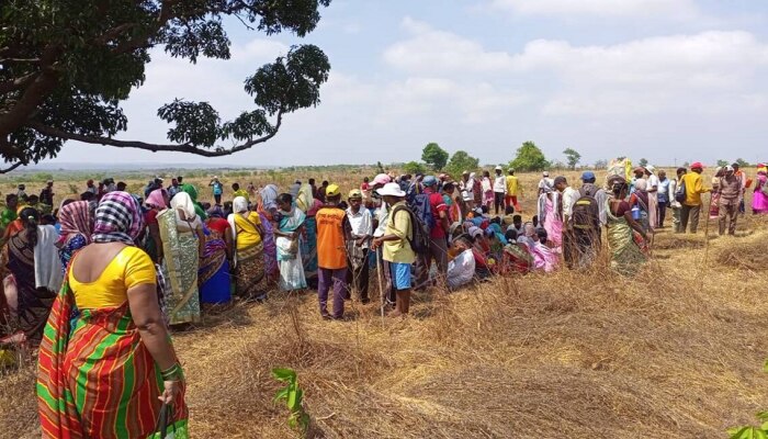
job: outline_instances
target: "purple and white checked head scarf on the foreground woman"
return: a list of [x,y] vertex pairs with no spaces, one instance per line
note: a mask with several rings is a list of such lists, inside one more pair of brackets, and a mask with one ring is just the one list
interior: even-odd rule
[[125,243],[134,245],[144,228],[142,209],[127,192],[105,194],[95,211],[93,243]]

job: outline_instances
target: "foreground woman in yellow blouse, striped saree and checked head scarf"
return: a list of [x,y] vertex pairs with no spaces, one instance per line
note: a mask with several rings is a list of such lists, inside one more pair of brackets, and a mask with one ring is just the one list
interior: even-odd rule
[[91,244],[75,255],[41,345],[45,438],[147,438],[163,403],[188,437],[184,378],[162,319],[144,222],[125,192],[104,195]]

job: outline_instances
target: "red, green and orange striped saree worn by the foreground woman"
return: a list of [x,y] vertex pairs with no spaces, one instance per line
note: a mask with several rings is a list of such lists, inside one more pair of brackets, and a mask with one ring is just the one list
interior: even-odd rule
[[[127,303],[78,312],[65,282],[39,349],[37,407],[44,438],[159,438],[162,378]],[[172,407],[169,431],[188,435],[188,409]]]

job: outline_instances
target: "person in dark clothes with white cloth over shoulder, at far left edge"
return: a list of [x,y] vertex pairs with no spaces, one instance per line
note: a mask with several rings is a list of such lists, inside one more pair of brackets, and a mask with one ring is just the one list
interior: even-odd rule
[[61,286],[61,261],[56,251],[58,234],[54,226],[38,226],[39,213],[25,207],[19,219],[23,229],[8,240],[2,251],[0,271],[10,333],[19,330],[23,338],[36,347],[43,338],[43,329]]

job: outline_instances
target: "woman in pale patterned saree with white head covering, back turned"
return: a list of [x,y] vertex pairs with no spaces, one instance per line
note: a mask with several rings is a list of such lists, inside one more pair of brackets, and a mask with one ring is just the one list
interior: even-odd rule
[[157,215],[162,240],[162,271],[170,284],[167,294],[171,325],[200,322],[199,257],[205,254],[203,221],[187,192],[171,200],[171,207]]

